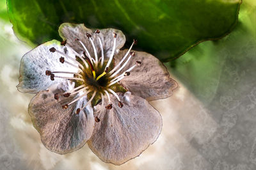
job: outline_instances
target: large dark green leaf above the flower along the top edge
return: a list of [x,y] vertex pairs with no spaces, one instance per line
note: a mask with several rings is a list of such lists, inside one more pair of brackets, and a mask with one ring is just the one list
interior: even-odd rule
[[241,0],[7,0],[13,29],[21,40],[61,40],[62,22],[115,27],[138,49],[170,61],[205,40],[227,35],[237,22]]

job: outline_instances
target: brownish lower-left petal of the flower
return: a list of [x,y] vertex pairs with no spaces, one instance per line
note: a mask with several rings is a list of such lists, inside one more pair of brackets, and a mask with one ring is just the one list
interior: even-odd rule
[[41,135],[45,147],[56,153],[65,154],[81,148],[93,132],[94,118],[92,109],[81,108],[83,100],[77,104],[69,105],[63,109],[61,105],[67,104],[72,97],[54,99],[55,93],[63,93],[60,85],[51,86],[49,90],[40,91],[29,104],[29,114],[33,125]]

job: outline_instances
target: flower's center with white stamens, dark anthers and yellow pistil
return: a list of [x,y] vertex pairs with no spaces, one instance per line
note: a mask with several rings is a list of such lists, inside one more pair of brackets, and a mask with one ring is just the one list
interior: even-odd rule
[[[77,72],[65,72],[65,71],[50,71],[46,70],[45,75],[48,75],[52,81],[55,78],[58,79],[67,79],[67,81],[72,81],[75,84],[75,88],[65,91],[65,93],[61,94],[54,94],[54,98],[56,100],[59,99],[60,95],[63,97],[74,97],[74,99],[68,103],[63,105],[63,109],[67,109],[68,105],[77,102],[79,99],[83,97],[87,97],[89,100],[85,104],[82,105],[81,108],[76,110],[76,114],[79,114],[81,109],[84,109],[87,105],[92,104],[97,105],[100,101],[102,105],[105,105],[104,96],[108,97],[108,103],[105,105],[106,109],[111,109],[111,98],[109,97],[109,93],[112,93],[118,99],[118,106],[123,107],[123,103],[116,94],[117,92],[124,93],[127,91],[124,87],[122,87],[118,82],[124,79],[125,76],[129,76],[131,70],[136,67],[140,66],[141,62],[136,61],[131,68],[124,70],[124,67],[129,63],[129,60],[135,56],[134,52],[131,52],[132,46],[136,44],[136,40],[132,42],[131,47],[126,52],[125,56],[122,60],[114,65],[113,57],[115,54],[115,47],[116,47],[116,33],[113,33],[113,48],[111,50],[111,54],[109,58],[104,58],[104,50],[102,46],[102,41],[100,36],[97,36],[100,31],[97,29],[95,31],[97,41],[99,41],[100,46],[100,53],[97,52],[95,44],[92,39],[92,35],[86,33],[86,36],[90,40],[90,43],[93,47],[93,54],[90,54],[86,45],[79,39],[75,39],[83,46],[83,54],[78,54],[73,49],[68,47],[67,40],[61,42],[61,45],[65,45],[67,50],[72,50],[76,57],[68,56],[67,50],[65,52],[61,52],[60,50],[55,49],[52,47],[49,49],[51,52],[57,52],[60,54],[60,62],[66,65],[70,65],[74,68],[77,68]],[[100,54],[100,58],[98,58],[98,54]],[[67,75],[67,76],[60,76]],[[119,75],[118,75],[119,74]]]

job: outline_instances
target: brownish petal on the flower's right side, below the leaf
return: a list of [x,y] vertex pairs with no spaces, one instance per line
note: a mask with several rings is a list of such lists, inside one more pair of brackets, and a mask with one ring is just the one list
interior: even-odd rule
[[[121,50],[115,56],[115,62],[119,63],[126,52],[127,50]],[[169,77],[163,63],[147,52],[134,52],[135,56],[131,58],[122,72],[135,65],[136,61],[141,61],[141,65],[136,66],[131,74],[122,79],[120,83],[131,91],[132,95],[145,98],[148,101],[170,97],[178,85]]]

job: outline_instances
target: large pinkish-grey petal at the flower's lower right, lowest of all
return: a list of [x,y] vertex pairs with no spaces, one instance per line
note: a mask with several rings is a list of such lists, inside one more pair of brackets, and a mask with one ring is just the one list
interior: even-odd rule
[[[162,118],[147,100],[131,95],[119,94],[124,106],[118,107],[118,100],[111,95],[113,108],[97,105],[93,135],[88,146],[104,162],[120,165],[138,157],[149,144],[154,143],[162,128]],[[105,100],[106,101],[106,100]]]

